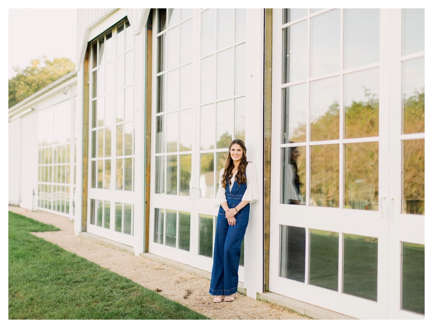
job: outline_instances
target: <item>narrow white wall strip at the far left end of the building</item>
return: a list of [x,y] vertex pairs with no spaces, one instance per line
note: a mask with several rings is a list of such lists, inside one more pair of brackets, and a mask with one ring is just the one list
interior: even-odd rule
[[8,202],[19,205],[21,201],[21,118],[9,122],[9,188]]

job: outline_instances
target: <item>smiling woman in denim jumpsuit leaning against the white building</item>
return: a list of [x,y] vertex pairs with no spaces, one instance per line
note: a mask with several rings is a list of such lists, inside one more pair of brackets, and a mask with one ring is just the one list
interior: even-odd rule
[[226,165],[220,172],[220,188],[216,204],[220,206],[216,220],[213,268],[209,293],[214,303],[233,301],[238,290],[238,269],[241,244],[249,218],[249,203],[258,201],[257,172],[246,160],[242,140],[230,143]]

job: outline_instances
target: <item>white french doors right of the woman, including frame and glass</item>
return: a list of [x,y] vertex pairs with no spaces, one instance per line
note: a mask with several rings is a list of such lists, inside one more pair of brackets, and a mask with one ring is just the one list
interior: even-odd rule
[[403,67],[408,96],[423,87],[423,50],[399,55],[401,10],[273,13],[269,290],[355,318],[422,317],[401,284],[423,287],[410,269],[423,268],[423,108],[407,123],[422,131],[402,132],[420,94],[403,111],[390,81]]

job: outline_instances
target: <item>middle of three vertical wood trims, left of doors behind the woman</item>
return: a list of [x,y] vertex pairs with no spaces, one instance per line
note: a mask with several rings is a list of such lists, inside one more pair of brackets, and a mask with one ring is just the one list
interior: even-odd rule
[[149,19],[146,26],[146,105],[145,105],[145,206],[144,206],[144,252],[149,252],[149,207],[150,207],[150,162],[151,162],[151,124],[152,124],[152,16],[149,13]]

